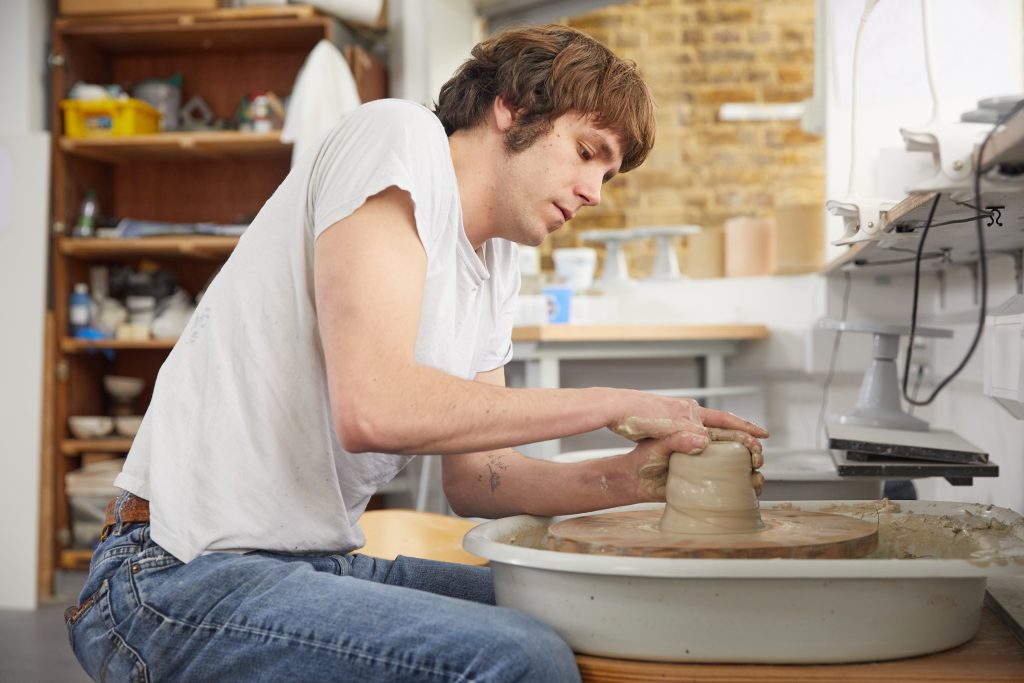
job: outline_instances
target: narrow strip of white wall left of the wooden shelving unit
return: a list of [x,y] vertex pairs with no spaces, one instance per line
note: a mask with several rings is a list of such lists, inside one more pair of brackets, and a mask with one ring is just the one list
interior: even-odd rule
[[0,6],[0,608],[36,606],[49,135],[47,3]]

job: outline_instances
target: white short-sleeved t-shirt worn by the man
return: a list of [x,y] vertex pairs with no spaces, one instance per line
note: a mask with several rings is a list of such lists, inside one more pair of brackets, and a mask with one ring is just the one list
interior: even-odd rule
[[313,245],[392,185],[413,198],[427,258],[417,361],[472,379],[511,357],[516,248],[495,239],[482,258],[473,251],[440,122],[394,99],[346,115],[292,169],[208,288],[115,481],[150,501],[153,539],[175,557],[364,544],[356,520],[410,458],[350,454],[338,441]]

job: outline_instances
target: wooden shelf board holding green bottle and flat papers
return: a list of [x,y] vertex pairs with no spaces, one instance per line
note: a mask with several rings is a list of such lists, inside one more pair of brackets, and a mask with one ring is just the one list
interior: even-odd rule
[[226,258],[238,244],[239,238],[210,234],[129,240],[57,239],[57,249],[61,254],[90,261],[147,256],[220,259]]

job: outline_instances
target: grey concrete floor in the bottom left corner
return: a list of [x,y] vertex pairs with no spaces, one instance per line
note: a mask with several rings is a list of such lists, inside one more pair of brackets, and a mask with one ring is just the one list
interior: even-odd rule
[[0,681],[88,683],[63,624],[63,610],[77,601],[84,582],[84,574],[65,572],[54,600],[35,611],[0,610]]

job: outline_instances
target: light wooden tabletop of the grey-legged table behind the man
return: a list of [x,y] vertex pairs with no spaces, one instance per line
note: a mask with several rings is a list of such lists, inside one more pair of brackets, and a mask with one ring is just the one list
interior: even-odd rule
[[516,342],[645,342],[767,339],[763,325],[543,325],[515,328]]

